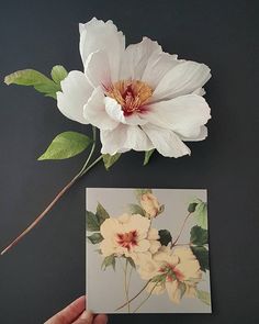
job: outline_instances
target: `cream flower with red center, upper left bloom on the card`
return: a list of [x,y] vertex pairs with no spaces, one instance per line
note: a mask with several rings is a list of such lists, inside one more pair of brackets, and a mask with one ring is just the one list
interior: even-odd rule
[[138,214],[106,219],[100,232],[103,236],[100,248],[105,257],[124,255],[137,262],[142,255],[151,256],[160,247],[158,231],[150,228],[150,221]]

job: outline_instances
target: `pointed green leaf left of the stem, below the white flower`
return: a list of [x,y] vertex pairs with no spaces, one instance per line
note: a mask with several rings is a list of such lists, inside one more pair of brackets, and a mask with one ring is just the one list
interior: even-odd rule
[[53,139],[38,160],[72,157],[83,152],[90,143],[92,143],[92,139],[85,134],[77,132],[60,133]]

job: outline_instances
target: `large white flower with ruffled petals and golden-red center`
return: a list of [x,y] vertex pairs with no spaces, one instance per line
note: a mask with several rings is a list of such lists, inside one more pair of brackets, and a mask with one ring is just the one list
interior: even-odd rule
[[183,141],[202,141],[210,108],[204,64],[164,53],[147,37],[125,47],[112,21],[79,25],[85,71],[70,71],[57,92],[67,118],[100,129],[103,154],[156,148],[161,155],[190,154]]

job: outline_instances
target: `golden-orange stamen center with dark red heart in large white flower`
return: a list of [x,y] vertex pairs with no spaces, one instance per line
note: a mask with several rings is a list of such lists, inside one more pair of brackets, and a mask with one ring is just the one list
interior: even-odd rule
[[122,80],[105,89],[105,94],[121,104],[125,116],[134,112],[145,112],[146,103],[153,94],[153,89],[139,80]]

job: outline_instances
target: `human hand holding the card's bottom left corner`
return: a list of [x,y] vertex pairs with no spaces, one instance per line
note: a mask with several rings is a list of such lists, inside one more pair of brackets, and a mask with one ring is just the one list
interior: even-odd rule
[[86,297],[82,295],[70,305],[58,312],[44,324],[106,324],[104,314],[93,315],[86,311]]

